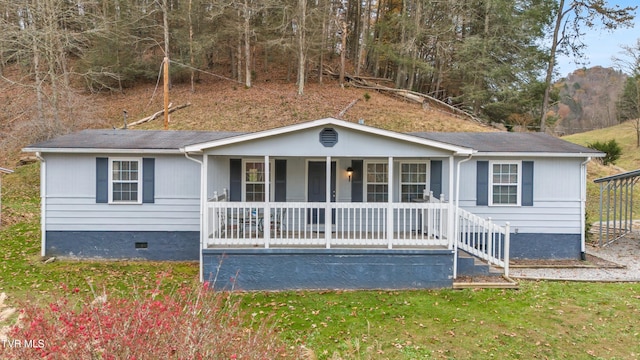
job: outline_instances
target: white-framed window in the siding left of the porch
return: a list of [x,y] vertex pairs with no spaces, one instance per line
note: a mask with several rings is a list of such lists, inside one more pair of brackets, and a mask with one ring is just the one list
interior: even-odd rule
[[142,167],[140,159],[110,159],[109,202],[134,203],[142,201]]

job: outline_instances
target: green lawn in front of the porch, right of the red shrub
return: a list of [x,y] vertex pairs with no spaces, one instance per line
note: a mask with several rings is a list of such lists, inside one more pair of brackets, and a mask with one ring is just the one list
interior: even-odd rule
[[640,356],[640,285],[523,282],[520,290],[252,293],[319,359]]

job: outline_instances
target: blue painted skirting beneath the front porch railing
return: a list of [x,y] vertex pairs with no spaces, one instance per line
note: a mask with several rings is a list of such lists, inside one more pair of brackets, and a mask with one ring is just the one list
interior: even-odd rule
[[446,249],[205,249],[205,281],[217,289],[425,289],[453,285]]

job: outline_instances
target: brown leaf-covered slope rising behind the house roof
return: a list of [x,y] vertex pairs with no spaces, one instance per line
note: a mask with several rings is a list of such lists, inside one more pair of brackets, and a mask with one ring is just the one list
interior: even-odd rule
[[[8,77],[18,77],[5,71]],[[304,96],[296,93],[295,82],[273,74],[258,79],[251,88],[238,82],[201,74],[192,91],[190,84],[176,82],[169,91],[171,107],[187,105],[170,114],[169,129],[259,131],[325,117],[366,125],[409,131],[495,131],[495,129],[452,114],[446,108],[425,106],[377,91],[359,89],[337,80],[310,82]],[[70,93],[68,114],[54,123],[33,116],[30,88],[0,82],[4,102],[0,110],[0,167],[12,168],[21,157],[19,149],[59,133],[84,128],[120,128],[163,110],[162,82],[144,83],[123,92]],[[162,129],[163,116],[130,129]]]

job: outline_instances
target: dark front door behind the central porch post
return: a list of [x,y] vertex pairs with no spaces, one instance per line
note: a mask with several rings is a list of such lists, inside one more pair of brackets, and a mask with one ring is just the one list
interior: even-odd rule
[[[327,162],[309,161],[307,201],[327,201]],[[336,201],[336,162],[331,162],[331,202]],[[335,212],[332,212],[331,223],[335,223]],[[324,224],[324,209],[309,209],[309,224]]]

